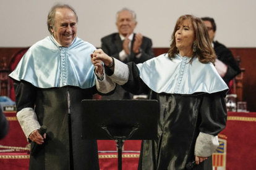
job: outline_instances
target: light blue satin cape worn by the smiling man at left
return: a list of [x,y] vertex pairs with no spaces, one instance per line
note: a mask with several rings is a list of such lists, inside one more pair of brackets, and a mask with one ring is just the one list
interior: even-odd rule
[[36,42],[9,75],[40,88],[77,86],[82,89],[95,85],[94,66],[90,54],[96,48],[80,38],[69,47],[59,47],[52,36]]

